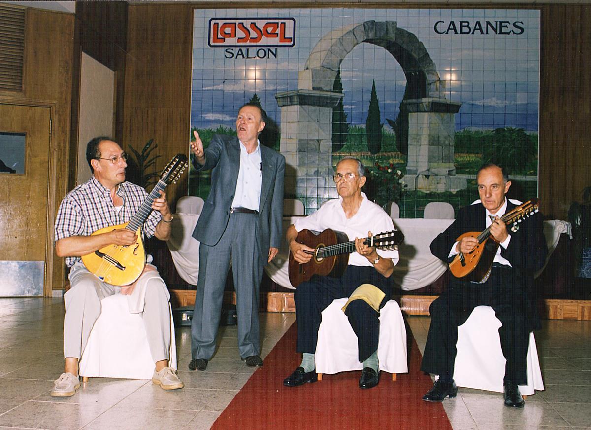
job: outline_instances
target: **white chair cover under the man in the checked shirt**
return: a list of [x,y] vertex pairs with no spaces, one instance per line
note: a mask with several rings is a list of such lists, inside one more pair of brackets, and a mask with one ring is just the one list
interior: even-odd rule
[[[121,294],[109,296],[100,303],[99,318],[90,331],[80,359],[80,376],[151,379],[154,361],[141,315],[129,313],[126,296]],[[171,312],[169,366],[176,369],[177,347],[172,317]]]

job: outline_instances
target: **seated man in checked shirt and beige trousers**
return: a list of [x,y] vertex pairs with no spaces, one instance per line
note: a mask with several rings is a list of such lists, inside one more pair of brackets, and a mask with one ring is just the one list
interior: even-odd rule
[[[157,188],[160,198],[152,198],[158,193],[152,192],[148,196],[142,187],[125,182],[127,154],[111,138],[95,137],[90,140],[86,147],[86,159],[93,176],[63,199],[57,212],[54,231],[56,254],[66,257],[66,264],[70,267],[71,288],[64,295],[66,363],[64,373],[55,381],[51,396],[70,397],[80,387],[78,363],[90,330],[100,315],[100,300],[119,293],[128,296],[130,312],[141,313],[144,319],[148,344],[155,363],[152,382],[165,390],[182,388],[183,382],[178,379],[175,370],[168,367],[171,341],[168,307],[170,295],[156,268],[145,264],[143,243],[137,234],[142,231],[146,237],[155,235],[160,240],[168,239],[173,215],[166,201],[166,194]],[[124,223],[130,219],[132,222],[129,225],[140,219],[138,231],[124,228]],[[113,227],[107,229],[111,226]],[[98,231],[100,229],[106,231]],[[121,252],[115,254],[115,257],[121,260],[119,264],[125,268],[137,266],[138,273],[131,280],[118,282],[117,276],[122,270],[108,270],[111,266],[106,261],[98,264],[95,269],[90,265],[87,268],[83,260],[89,256],[98,258],[95,254],[106,254],[105,247],[118,247]],[[122,260],[124,249],[134,250],[132,254],[138,261]],[[99,253],[99,250],[103,253]],[[148,263],[150,261],[151,257],[148,256]],[[94,270],[94,273],[89,269]],[[100,275],[96,275],[97,272]],[[111,283],[103,279],[109,279]]]

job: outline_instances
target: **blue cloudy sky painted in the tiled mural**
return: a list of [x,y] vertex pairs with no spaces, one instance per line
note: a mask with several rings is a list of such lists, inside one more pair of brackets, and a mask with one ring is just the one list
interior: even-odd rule
[[[278,47],[277,58],[243,58],[232,49],[208,46],[210,18],[282,17],[296,20],[294,47]],[[538,130],[540,12],[462,9],[229,9],[194,11],[191,126],[233,127],[239,106],[256,93],[267,114],[280,122],[275,94],[298,89],[298,72],[327,32],[364,21],[397,21],[424,44],[446,81],[446,98],[462,102],[456,130],[519,127]],[[440,24],[436,23],[438,21]],[[508,21],[520,34],[438,34],[460,21]],[[519,22],[518,27],[512,23]],[[519,30],[522,28],[522,31]],[[465,27],[467,28],[467,27]],[[478,32],[476,32],[478,33]],[[251,53],[252,55],[252,53]],[[375,80],[382,120],[394,120],[404,95],[402,67],[381,47],[359,44],[343,59],[345,112],[353,125],[365,124]]]

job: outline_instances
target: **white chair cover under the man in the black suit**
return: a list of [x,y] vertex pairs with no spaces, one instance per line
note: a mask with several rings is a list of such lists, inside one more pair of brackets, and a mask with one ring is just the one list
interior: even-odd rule
[[[501,321],[490,306],[476,306],[463,325],[457,328],[457,355],[453,379],[457,386],[503,392],[505,357],[499,338]],[[535,347],[534,334],[530,334],[527,353],[527,385],[520,385],[522,395],[533,395],[544,389],[544,381]]]

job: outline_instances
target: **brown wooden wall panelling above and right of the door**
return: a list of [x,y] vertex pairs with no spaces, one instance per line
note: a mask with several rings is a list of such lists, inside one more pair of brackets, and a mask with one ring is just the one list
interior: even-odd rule
[[[51,108],[50,176],[47,201],[46,293],[61,289],[64,263],[53,251],[57,207],[67,192],[72,101],[74,15],[27,9],[22,92],[0,92],[3,101]],[[25,227],[25,226],[24,226]],[[22,232],[24,235],[25,232]]]

